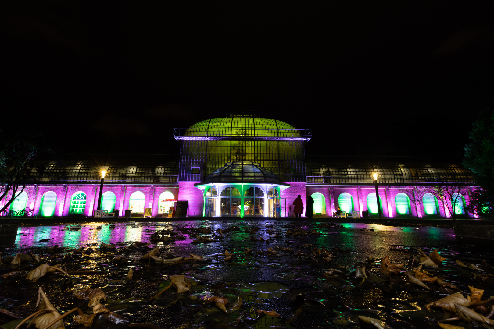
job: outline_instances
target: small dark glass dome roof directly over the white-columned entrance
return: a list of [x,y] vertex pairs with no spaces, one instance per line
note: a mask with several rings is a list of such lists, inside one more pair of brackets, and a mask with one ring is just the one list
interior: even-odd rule
[[280,184],[278,176],[257,162],[232,161],[207,175],[204,183],[273,183]]

